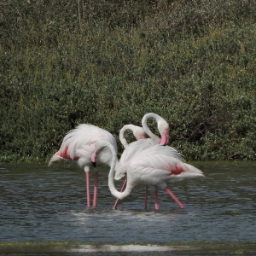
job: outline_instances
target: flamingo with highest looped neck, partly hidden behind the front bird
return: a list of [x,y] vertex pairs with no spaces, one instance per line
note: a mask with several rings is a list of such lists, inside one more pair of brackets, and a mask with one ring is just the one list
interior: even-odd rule
[[[158,130],[161,134],[161,138],[157,137],[156,135],[154,135],[152,131],[149,130],[147,125],[148,118],[154,118],[156,120]],[[131,158],[134,155],[138,154],[139,152],[142,152],[144,149],[148,147],[154,146],[155,144],[160,143],[161,145],[166,145],[167,143],[169,143],[169,130],[170,130],[169,125],[165,119],[160,117],[160,115],[156,113],[146,113],[143,116],[142,125],[143,125],[143,131],[145,131],[150,138],[131,143],[125,148],[125,151],[123,152],[119,160],[119,167],[117,168],[116,174],[114,177],[115,180],[119,180],[120,178],[125,176],[126,163],[129,160],[131,160]],[[124,191],[126,182],[127,180],[125,179],[125,182],[120,192]],[[145,207],[144,207],[145,209],[147,208],[147,200],[148,200],[148,186],[146,186],[146,193],[145,193]],[[155,192],[155,201],[158,201],[157,192]],[[116,209],[118,204],[119,204],[119,199],[115,201],[113,209]]]

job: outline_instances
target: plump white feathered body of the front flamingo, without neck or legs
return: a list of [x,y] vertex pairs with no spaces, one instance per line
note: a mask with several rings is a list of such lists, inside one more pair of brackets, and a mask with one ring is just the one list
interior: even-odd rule
[[166,189],[168,184],[203,177],[195,166],[190,166],[179,158],[171,147],[154,147],[137,154],[127,164],[127,180],[133,185],[145,184]]

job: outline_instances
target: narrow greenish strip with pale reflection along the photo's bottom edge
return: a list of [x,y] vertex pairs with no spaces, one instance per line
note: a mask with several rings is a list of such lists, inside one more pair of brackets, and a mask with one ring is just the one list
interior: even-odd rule
[[[20,255],[255,255],[256,241],[195,241],[158,243],[102,243],[102,242],[0,242],[0,253]],[[95,254],[96,253],[96,254]]]

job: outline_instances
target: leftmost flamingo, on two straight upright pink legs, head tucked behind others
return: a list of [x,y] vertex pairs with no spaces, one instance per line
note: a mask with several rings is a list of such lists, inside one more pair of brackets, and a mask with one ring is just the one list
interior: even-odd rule
[[[143,137],[143,128],[136,125],[125,127],[125,130],[131,130],[136,138]],[[122,133],[121,133],[122,135]],[[124,135],[122,135],[124,137]],[[86,183],[86,194],[87,194],[87,207],[90,207],[90,167],[91,154],[95,151],[95,143],[98,140],[103,140],[111,143],[113,148],[117,150],[117,143],[111,133],[95,125],[78,125],[72,131],[69,131],[66,137],[63,138],[61,148],[51,157],[49,160],[49,166],[59,160],[74,160],[77,161],[80,167],[84,168],[85,172],[85,183]],[[123,139],[125,141],[125,138]],[[98,190],[98,176],[100,166],[107,164],[112,159],[112,154],[108,148],[102,150],[101,154],[94,155],[94,167],[95,167],[95,185],[94,185],[94,197],[93,207],[96,207],[97,190]],[[117,162],[118,166],[118,162]]]

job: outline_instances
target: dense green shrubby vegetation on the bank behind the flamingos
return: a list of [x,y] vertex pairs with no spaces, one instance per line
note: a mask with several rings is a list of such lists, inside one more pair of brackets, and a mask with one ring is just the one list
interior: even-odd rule
[[0,161],[149,112],[187,160],[255,160],[255,42],[253,0],[2,1]]

